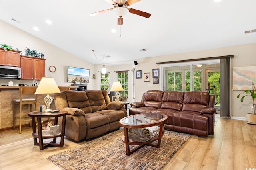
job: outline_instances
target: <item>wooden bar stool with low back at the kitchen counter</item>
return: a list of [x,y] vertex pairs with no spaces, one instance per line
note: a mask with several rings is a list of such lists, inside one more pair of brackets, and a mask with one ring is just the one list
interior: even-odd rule
[[[21,133],[21,123],[24,122],[24,121],[31,121],[30,117],[22,116],[22,105],[28,105],[29,112],[31,112],[32,104],[35,104],[35,108],[36,108],[36,98],[22,98],[22,97],[23,97],[24,94],[35,94],[36,88],[37,88],[37,86],[20,86],[20,88],[19,88],[20,98],[12,100],[12,116],[13,116],[13,118],[12,118],[12,124],[13,124],[12,129],[15,129],[16,119],[19,119],[20,133]],[[20,106],[20,111],[19,111],[18,116],[16,116],[16,113],[15,113],[15,106],[16,105]],[[29,119],[22,120],[24,118],[29,118]],[[31,125],[31,122],[30,122],[30,125]]]

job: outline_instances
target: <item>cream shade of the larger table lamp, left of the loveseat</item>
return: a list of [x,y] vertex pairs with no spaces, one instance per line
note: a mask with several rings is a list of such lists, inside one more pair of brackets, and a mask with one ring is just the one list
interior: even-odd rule
[[42,77],[35,94],[60,93],[60,89],[52,77]]

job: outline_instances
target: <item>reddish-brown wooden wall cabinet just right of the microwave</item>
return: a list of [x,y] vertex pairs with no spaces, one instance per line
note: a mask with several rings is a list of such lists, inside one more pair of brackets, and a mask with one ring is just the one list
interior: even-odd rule
[[36,57],[20,56],[21,79],[41,80],[45,76],[45,60]]

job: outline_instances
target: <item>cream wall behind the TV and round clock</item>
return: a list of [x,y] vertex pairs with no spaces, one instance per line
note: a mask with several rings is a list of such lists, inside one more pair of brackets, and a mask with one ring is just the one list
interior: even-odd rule
[[[4,21],[0,21],[0,44],[4,43],[11,45],[14,49],[24,53],[25,47],[35,49],[40,53],[44,53],[45,61],[45,76],[53,77],[58,86],[70,86],[72,83],[67,82],[68,66],[90,69],[90,80],[87,88],[94,90],[94,81],[92,75],[94,74],[94,64],[89,63],[79,57],[76,57],[58,47],[51,45],[41,39],[34,37]],[[56,72],[50,72],[49,66],[54,65]],[[0,84],[8,84],[12,79],[0,79]],[[14,84],[28,84],[32,85],[32,80],[12,80]],[[38,82],[39,83],[39,82]]]

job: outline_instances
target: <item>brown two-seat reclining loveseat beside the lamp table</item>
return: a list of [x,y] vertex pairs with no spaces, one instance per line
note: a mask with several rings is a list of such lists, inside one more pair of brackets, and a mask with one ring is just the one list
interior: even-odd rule
[[[114,131],[120,128],[119,120],[127,116],[124,104],[110,102],[106,90],[56,93],[54,103],[56,109],[68,111],[65,136],[75,141]],[[61,123],[62,119],[58,119],[58,125]]]

